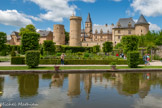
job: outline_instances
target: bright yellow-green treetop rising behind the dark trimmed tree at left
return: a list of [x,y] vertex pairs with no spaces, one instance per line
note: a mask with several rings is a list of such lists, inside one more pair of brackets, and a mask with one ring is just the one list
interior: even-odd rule
[[19,33],[20,36],[23,35],[23,33],[25,33],[25,32],[36,32],[36,28],[32,24],[26,25],[25,28],[23,28],[23,27],[20,28],[20,33]]

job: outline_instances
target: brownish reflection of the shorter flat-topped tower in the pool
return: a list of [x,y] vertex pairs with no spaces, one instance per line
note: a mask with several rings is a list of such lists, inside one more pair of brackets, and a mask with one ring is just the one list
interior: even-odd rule
[[51,83],[50,83],[50,88],[51,87],[62,87],[63,82],[64,82],[64,74],[54,74],[51,77]]

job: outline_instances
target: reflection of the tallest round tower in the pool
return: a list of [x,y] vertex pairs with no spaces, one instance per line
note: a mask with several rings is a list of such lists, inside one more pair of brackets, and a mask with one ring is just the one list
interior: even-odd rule
[[80,74],[69,74],[68,80],[68,96],[80,95]]

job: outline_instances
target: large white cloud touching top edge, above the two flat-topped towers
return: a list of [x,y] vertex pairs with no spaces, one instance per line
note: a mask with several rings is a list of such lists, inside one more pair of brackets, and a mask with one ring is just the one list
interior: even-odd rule
[[46,10],[41,13],[40,18],[53,22],[62,22],[63,18],[69,18],[75,9],[75,5],[69,5],[69,0],[28,0]]

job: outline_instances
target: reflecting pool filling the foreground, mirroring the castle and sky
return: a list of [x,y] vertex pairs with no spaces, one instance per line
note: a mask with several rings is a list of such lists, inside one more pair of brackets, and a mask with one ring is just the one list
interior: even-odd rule
[[162,108],[162,73],[0,75],[2,108]]

